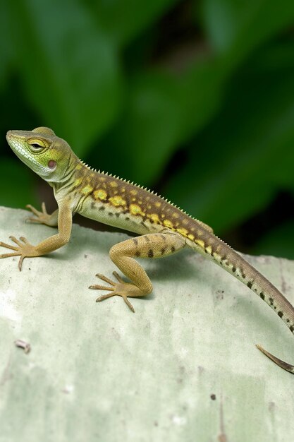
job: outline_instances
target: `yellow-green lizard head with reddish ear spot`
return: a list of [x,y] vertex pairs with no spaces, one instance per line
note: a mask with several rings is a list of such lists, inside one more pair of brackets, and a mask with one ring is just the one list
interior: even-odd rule
[[8,131],[6,140],[18,158],[46,181],[63,181],[75,157],[68,143],[47,127]]

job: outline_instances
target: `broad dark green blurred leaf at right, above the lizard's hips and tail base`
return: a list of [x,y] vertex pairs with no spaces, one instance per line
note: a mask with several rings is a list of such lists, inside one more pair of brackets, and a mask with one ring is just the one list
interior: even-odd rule
[[166,185],[172,201],[216,232],[262,210],[274,194],[281,171],[288,179],[293,177],[294,52],[290,47],[284,56],[287,63],[274,66],[269,52],[260,52],[250,68],[235,76],[226,106],[197,136],[188,164]]

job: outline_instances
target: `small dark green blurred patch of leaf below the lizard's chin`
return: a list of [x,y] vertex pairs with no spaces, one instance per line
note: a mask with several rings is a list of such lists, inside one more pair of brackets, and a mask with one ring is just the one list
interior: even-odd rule
[[0,162],[0,201],[1,205],[25,208],[26,204],[36,204],[33,174],[19,160],[3,157]]

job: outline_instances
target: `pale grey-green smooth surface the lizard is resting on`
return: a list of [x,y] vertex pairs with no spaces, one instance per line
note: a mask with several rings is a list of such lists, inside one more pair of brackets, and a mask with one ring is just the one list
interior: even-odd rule
[[[1,240],[54,229],[1,208]],[[0,261],[0,441],[282,442],[293,375],[255,348],[293,357],[293,337],[247,287],[196,253],[143,265],[154,294],[95,304],[94,274],[125,234],[73,226],[65,248]],[[294,301],[294,263],[248,257]],[[30,354],[13,344],[30,342]],[[292,358],[293,359],[293,358]],[[211,395],[216,395],[212,400]]]

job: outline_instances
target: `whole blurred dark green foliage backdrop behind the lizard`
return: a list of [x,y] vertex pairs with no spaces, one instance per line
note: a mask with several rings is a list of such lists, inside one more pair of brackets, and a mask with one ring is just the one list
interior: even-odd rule
[[293,24],[293,0],[1,2],[0,204],[39,186],[4,133],[50,126],[235,247],[294,258]]

